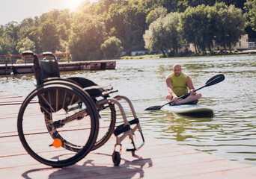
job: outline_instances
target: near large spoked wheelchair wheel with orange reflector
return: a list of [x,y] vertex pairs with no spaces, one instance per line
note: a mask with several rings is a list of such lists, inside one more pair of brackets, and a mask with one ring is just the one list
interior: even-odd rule
[[38,87],[20,107],[19,139],[28,154],[40,163],[70,166],[94,147],[99,130],[95,111],[91,98],[72,87]]

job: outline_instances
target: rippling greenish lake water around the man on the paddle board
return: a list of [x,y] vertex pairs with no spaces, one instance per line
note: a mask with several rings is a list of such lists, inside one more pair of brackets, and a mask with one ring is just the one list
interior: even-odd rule
[[[165,76],[174,63],[182,65],[195,89],[214,75],[225,75],[225,81],[200,90],[199,104],[212,107],[216,116],[197,119],[163,110],[144,111],[166,103]],[[61,72],[63,78],[71,76],[112,84],[118,90],[112,96],[131,99],[144,135],[256,165],[256,56],[117,60],[113,70]],[[34,90],[33,82],[33,74],[0,75],[0,90],[26,96]]]

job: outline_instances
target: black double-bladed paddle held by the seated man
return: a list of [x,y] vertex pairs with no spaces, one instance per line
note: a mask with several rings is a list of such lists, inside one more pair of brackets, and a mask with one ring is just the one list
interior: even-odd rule
[[[204,87],[210,87],[210,86],[212,86],[212,85],[214,85],[214,84],[219,84],[219,82],[224,81],[224,79],[225,79],[225,76],[224,76],[223,74],[215,75],[213,78],[210,78],[210,79],[205,83]],[[196,92],[196,91],[198,91],[198,90],[201,90],[201,89],[204,88],[204,87],[198,88],[197,90],[194,90],[194,92]],[[184,98],[184,97],[187,97],[187,96],[189,96],[189,93],[187,93],[186,95],[180,96],[178,99]],[[163,104],[162,106],[148,107],[148,108],[145,109],[145,110],[160,110],[160,109],[161,109],[162,107],[164,107],[165,105],[171,104],[171,103],[173,103],[173,102],[174,102],[174,101],[170,101],[170,102],[168,102],[168,103],[166,103],[166,104]]]

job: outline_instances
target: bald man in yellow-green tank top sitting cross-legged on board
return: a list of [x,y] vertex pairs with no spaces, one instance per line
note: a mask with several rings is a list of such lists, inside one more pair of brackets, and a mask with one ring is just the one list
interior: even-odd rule
[[[177,104],[197,104],[198,99],[201,98],[200,92],[194,92],[195,88],[193,86],[191,78],[182,72],[182,68],[179,63],[174,64],[172,67],[171,75],[165,78],[166,86],[170,95],[166,96],[167,101],[174,101],[172,105]],[[190,95],[186,98],[180,98],[181,95],[186,93]]]

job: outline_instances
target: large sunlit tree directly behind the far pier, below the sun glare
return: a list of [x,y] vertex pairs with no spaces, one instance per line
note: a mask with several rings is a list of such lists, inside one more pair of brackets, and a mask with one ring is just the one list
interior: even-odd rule
[[99,60],[106,37],[104,23],[97,16],[76,15],[71,25],[69,48],[73,60]]

